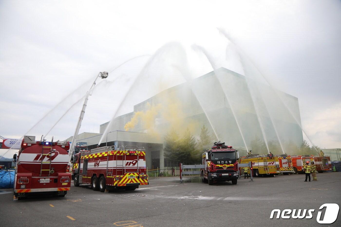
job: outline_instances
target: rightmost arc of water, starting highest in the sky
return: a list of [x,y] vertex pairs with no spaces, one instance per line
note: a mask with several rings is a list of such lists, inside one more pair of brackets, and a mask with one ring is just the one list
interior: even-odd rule
[[[227,40],[229,40],[231,43],[233,43],[235,45],[235,47],[238,49],[238,51],[240,53],[242,53],[244,56],[246,56],[244,54],[244,51],[236,44],[236,42],[233,41],[233,39],[222,29],[218,29],[225,37]],[[272,88],[273,91],[275,91],[276,95],[279,97],[279,99],[281,100],[281,102],[283,103],[283,105],[285,106],[285,108],[290,112],[290,114],[292,115],[292,117],[294,118],[294,120],[296,121],[296,123],[298,124],[298,126],[300,126],[301,130],[303,131],[303,133],[307,136],[308,140],[310,141],[310,143],[314,144],[311,139],[309,138],[308,134],[305,132],[305,130],[303,129],[301,123],[296,119],[292,109],[290,107],[288,107],[283,98],[281,97],[281,95],[279,94],[278,90],[275,89],[275,86],[272,85],[272,83],[269,81],[269,79],[262,73],[262,71],[259,69],[259,67],[256,66],[256,64],[250,59],[248,58],[249,61],[253,64],[253,66],[257,69],[257,71],[262,75],[262,77],[266,80],[266,82],[269,84],[269,86]],[[316,152],[318,153],[317,149],[315,146],[313,146],[314,149],[316,150]]]

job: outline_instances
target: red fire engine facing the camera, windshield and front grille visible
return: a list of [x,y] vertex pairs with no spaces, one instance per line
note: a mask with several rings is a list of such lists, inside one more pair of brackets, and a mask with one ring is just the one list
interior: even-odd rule
[[232,181],[237,184],[239,152],[225,143],[215,142],[214,146],[202,154],[201,169],[203,182],[212,185],[214,181]]

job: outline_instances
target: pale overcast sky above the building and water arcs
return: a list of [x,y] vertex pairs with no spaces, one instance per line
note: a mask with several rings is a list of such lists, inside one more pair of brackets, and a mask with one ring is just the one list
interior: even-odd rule
[[[193,75],[212,71],[193,44],[207,49],[217,66],[242,74],[238,58],[226,55],[229,42],[217,28],[233,37],[277,89],[298,98],[302,126],[313,143],[341,147],[341,3],[329,0],[0,0],[0,136],[20,138],[87,81],[56,111],[60,114],[80,99],[99,71],[153,55],[169,42],[183,46]],[[98,85],[80,133],[99,132],[99,124],[116,111],[125,85],[133,84],[130,75],[148,59],[133,59]],[[107,107],[105,86],[115,78]],[[174,81],[183,82],[176,76]],[[132,111],[132,106],[121,112]],[[49,135],[73,135],[80,107],[79,102]],[[45,119],[48,126],[40,122],[29,134],[40,137],[59,117],[52,113]]]

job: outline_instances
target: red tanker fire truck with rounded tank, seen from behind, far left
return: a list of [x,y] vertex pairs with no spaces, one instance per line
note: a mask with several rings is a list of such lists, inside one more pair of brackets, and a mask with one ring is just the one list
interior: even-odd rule
[[14,179],[14,199],[39,193],[53,193],[63,197],[70,190],[71,173],[66,172],[69,162],[66,141],[48,142],[35,136],[25,136],[18,155]]

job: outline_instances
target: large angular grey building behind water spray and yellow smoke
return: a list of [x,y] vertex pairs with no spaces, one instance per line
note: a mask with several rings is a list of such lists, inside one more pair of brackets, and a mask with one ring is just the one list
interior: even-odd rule
[[[127,127],[132,119],[133,126]],[[220,68],[134,105],[133,112],[101,124],[99,134],[80,134],[76,142],[95,148],[109,126],[100,146],[145,147],[147,167],[164,169],[176,164],[164,160],[163,139],[170,128],[179,133],[189,128],[198,136],[203,125],[217,140],[240,149],[248,148],[255,137],[297,146],[303,140],[296,97]]]

